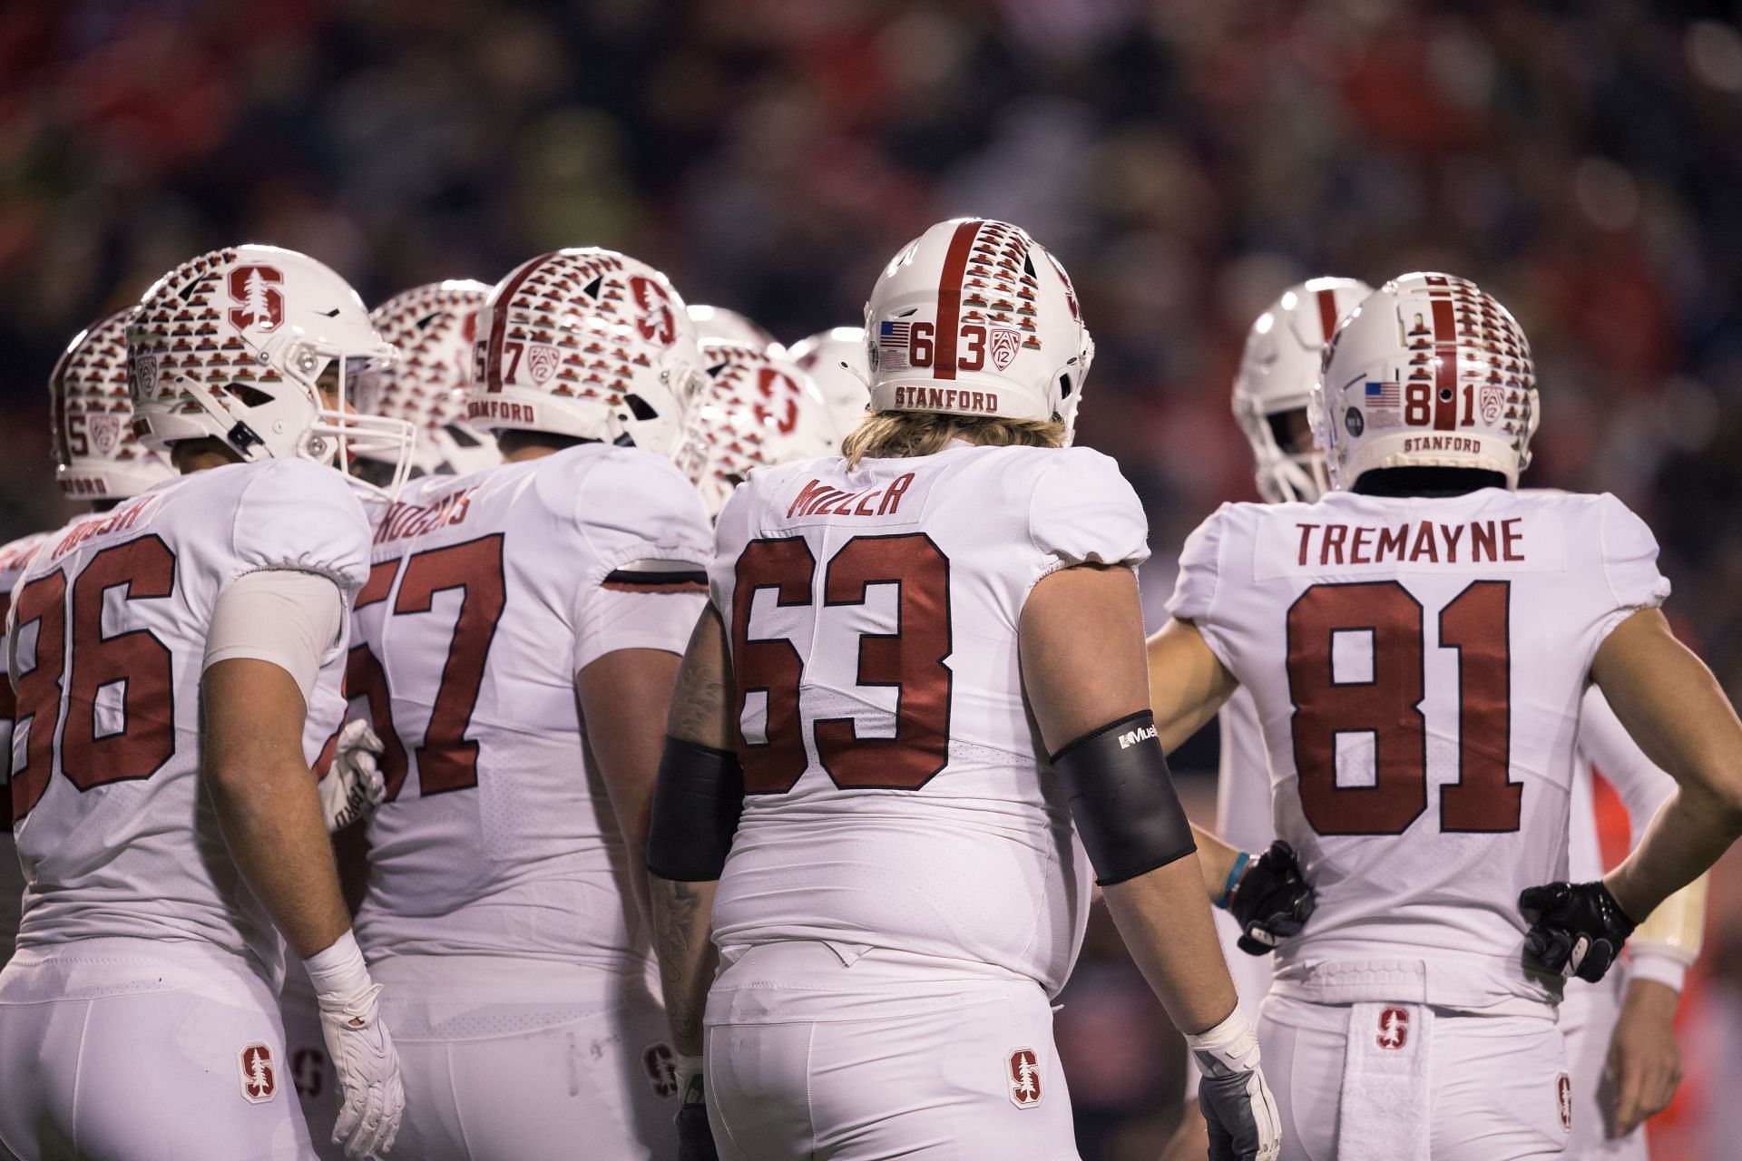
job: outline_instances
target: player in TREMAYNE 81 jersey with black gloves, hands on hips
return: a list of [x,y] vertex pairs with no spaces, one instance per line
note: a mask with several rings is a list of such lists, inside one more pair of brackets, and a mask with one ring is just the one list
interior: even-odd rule
[[[1336,491],[1225,505],[1150,642],[1164,745],[1251,689],[1319,889],[1263,1008],[1284,1158],[1561,1156],[1563,976],[1599,978],[1742,830],[1742,726],[1669,635],[1650,531],[1611,496],[1516,491],[1536,407],[1500,303],[1385,284],[1313,388]],[[1566,867],[1587,681],[1681,785],[1603,882],[1533,888]]]

